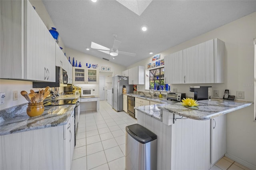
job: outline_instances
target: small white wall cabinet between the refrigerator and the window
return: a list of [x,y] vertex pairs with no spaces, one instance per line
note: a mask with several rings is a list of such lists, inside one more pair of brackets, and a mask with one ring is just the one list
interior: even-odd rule
[[128,83],[129,85],[145,84],[145,67],[136,66],[129,69]]

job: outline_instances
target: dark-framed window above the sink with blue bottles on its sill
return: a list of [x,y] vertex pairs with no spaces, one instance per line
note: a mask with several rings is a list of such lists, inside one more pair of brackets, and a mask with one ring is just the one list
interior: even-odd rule
[[150,81],[149,81],[149,89],[155,90],[170,90],[169,88],[165,88],[164,84],[164,67],[153,69],[149,71]]

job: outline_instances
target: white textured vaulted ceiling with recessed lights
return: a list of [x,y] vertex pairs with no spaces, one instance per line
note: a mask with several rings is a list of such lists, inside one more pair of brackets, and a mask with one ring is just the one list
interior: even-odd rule
[[[124,66],[256,11],[255,0],[153,0],[140,16],[116,0],[42,1],[66,47]],[[147,32],[140,30],[143,24]],[[86,50],[91,42],[111,48],[113,33],[122,42],[118,50],[136,57],[119,54],[112,59],[95,49]]]

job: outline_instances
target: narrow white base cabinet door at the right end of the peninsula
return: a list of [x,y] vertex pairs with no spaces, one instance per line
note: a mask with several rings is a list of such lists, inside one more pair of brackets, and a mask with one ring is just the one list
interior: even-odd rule
[[226,115],[211,119],[211,165],[226,153]]

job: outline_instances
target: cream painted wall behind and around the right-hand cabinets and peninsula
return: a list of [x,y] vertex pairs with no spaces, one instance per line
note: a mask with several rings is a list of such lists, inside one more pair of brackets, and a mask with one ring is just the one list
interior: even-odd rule
[[[225,89],[230,90],[230,95],[236,95],[236,91],[244,91],[245,99],[240,100],[254,101],[253,39],[256,38],[256,12],[175,47],[170,47],[166,51],[160,52],[161,58],[214,38],[225,42],[224,83],[199,85],[211,85],[212,93],[213,90],[219,90],[220,97],[224,95]],[[136,65],[143,65],[147,68],[148,63],[151,63],[151,57],[130,65],[128,68]],[[183,92],[189,97],[193,97],[194,94],[189,91],[189,86],[191,85],[171,85],[171,89],[177,88],[178,92]],[[145,89],[145,85],[138,85],[138,87],[140,90]],[[249,168],[256,169],[256,123],[253,122],[253,106],[228,113],[226,120],[227,155],[240,163],[246,164]]]

